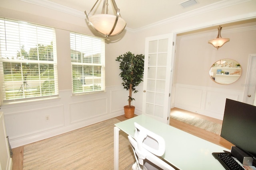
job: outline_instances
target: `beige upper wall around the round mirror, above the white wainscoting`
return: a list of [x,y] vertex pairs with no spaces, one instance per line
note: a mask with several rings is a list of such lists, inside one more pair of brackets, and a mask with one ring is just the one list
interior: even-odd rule
[[[230,41],[218,50],[208,43],[208,40],[216,38],[217,34],[218,29],[215,27],[210,32],[177,36],[176,82],[243,90],[244,86],[241,84],[246,81],[249,55],[256,52],[256,20],[236,27],[223,26],[222,37],[228,37]],[[241,64],[242,76],[236,83],[223,86],[209,79],[212,64],[220,59],[233,59]]]

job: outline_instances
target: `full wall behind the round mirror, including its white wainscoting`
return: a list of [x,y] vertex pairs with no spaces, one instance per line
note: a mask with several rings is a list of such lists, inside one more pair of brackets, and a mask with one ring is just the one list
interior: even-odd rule
[[[226,98],[244,102],[250,54],[256,53],[256,20],[222,28],[222,37],[230,38],[220,49],[208,44],[216,38],[213,30],[177,36],[174,74],[175,107],[223,119]],[[222,85],[209,75],[212,64],[233,59],[241,64],[242,75],[234,83]]]

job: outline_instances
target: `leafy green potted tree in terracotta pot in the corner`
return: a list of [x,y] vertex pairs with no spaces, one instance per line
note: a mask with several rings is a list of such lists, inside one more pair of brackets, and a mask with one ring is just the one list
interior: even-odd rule
[[119,69],[121,70],[120,76],[123,80],[122,85],[124,89],[129,91],[128,105],[124,106],[124,115],[126,118],[134,117],[135,106],[131,106],[132,92],[137,93],[136,86],[143,81],[144,73],[144,55],[134,55],[130,51],[120,55],[116,58],[120,62]]

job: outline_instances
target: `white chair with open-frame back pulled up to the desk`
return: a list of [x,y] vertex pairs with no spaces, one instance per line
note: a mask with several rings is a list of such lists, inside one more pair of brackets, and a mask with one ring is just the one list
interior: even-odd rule
[[175,170],[158,156],[165,152],[165,141],[159,135],[145,129],[138,123],[135,125],[134,138],[128,139],[132,145],[136,162],[132,165],[133,170]]

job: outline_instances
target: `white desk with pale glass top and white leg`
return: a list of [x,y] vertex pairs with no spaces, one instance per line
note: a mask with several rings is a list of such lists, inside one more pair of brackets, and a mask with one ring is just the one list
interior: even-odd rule
[[116,123],[114,127],[114,170],[118,170],[119,130],[134,137],[134,122],[162,136],[166,151],[162,158],[180,170],[224,170],[225,168],[212,156],[212,152],[226,150],[214,143],[164,124],[146,115],[139,115]]

